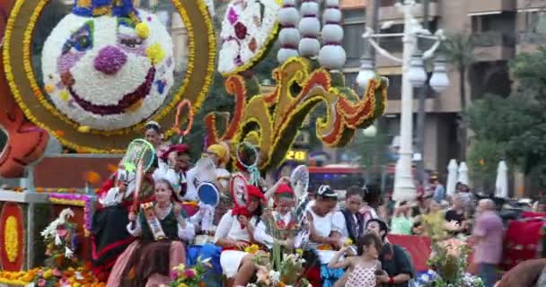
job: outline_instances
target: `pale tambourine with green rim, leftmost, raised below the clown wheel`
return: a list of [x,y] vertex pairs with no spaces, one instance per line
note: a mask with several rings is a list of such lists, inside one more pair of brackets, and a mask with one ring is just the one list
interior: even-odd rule
[[137,138],[129,143],[127,152],[121,159],[120,165],[124,170],[134,173],[137,170],[137,164],[142,161],[144,170],[147,171],[152,166],[155,159],[155,149],[152,143],[145,139]]

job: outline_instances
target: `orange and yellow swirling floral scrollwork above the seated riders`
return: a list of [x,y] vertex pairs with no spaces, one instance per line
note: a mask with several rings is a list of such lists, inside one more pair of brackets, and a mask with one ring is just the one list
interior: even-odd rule
[[326,116],[316,122],[317,137],[330,147],[345,146],[357,129],[371,125],[383,115],[386,78],[370,80],[365,94],[359,98],[355,91],[345,87],[342,74],[317,66],[304,57],[290,58],[273,72],[277,81],[275,91],[254,96],[248,102],[244,78],[241,75],[227,78],[226,90],[236,101],[234,115],[224,135],[219,135],[216,129],[218,115],[207,115],[208,139],[212,143],[228,140],[241,143],[249,135],[258,134],[259,168],[269,170],[282,163],[305,117],[321,102],[328,109]]

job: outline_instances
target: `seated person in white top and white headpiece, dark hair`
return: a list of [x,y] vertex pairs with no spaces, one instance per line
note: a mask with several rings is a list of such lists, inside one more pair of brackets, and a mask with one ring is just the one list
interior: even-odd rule
[[[306,209],[306,221],[309,225],[309,247],[317,251],[321,261],[321,286],[330,287],[343,275],[342,269],[331,269],[328,263],[335,256],[337,249],[342,248],[342,227],[335,222],[334,214],[338,204],[338,194],[330,186],[321,186],[315,199]],[[313,271],[313,270],[311,270]],[[313,278],[310,278],[314,280]],[[316,287],[313,284],[313,287]]]

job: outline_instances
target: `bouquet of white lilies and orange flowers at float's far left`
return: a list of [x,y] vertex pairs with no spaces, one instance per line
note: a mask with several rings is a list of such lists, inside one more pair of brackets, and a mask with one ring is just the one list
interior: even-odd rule
[[68,222],[74,216],[70,208],[64,209],[58,218],[41,231],[46,244],[46,265],[64,270],[77,266],[75,223]]

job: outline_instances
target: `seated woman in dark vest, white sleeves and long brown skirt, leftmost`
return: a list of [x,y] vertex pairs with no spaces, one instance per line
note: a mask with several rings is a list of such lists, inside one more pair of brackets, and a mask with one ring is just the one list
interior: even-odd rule
[[155,202],[141,204],[137,216],[130,214],[127,230],[137,240],[116,261],[107,286],[159,286],[170,283],[172,268],[186,263],[183,241],[195,236],[174,199],[171,182],[155,182]]

